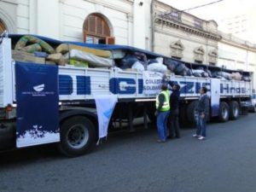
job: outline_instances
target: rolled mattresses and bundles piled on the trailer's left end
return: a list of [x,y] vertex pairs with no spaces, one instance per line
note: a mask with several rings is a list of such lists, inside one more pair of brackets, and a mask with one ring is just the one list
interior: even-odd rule
[[[67,64],[75,67],[113,67],[112,54],[108,50],[90,49],[73,44],[60,44],[55,49],[44,40],[23,36],[15,44],[15,61],[30,61],[42,64]],[[40,58],[40,59],[39,59]]]

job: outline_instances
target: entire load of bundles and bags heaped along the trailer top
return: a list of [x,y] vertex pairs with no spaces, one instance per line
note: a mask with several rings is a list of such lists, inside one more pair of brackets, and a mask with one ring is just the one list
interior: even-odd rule
[[118,71],[153,71],[199,78],[251,81],[250,77],[243,76],[238,72],[211,72],[206,67],[195,66],[192,69],[192,67],[186,66],[182,61],[175,61],[171,58],[157,57],[147,59],[147,55],[141,52],[126,52],[122,49],[115,49],[111,52],[109,50],[91,49],[74,44],[59,44],[57,47],[53,48],[44,40],[30,35],[20,38],[15,44],[12,56],[15,61],[60,66],[113,67]]

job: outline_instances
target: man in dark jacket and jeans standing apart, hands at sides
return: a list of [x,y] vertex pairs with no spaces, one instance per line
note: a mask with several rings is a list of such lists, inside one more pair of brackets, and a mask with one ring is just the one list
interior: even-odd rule
[[198,101],[198,105],[195,108],[197,113],[196,117],[196,134],[193,137],[197,137],[199,140],[204,140],[207,137],[207,116],[209,115],[209,97],[207,96],[207,88],[202,87],[200,90],[201,96]]

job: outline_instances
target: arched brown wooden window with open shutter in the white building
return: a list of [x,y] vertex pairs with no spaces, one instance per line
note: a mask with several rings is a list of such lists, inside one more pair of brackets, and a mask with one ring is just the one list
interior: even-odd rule
[[102,15],[91,14],[84,21],[84,42],[88,44],[114,44],[107,20]]

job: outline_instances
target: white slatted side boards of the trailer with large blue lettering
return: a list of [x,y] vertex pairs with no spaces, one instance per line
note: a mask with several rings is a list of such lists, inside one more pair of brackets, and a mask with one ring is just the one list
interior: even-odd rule
[[[0,58],[0,108],[4,108],[8,104],[16,102],[15,61],[11,58],[9,38],[3,38],[0,55],[3,55]],[[198,97],[202,86],[207,86],[211,90],[212,79],[210,78],[183,77],[171,74],[169,79],[180,84],[183,99],[189,100]],[[115,68],[59,66],[59,100],[60,102],[90,101],[94,100],[96,95],[116,95],[119,101],[127,99],[154,100],[155,94],[145,93],[144,80],[143,73],[120,71]],[[220,80],[221,97],[247,97],[250,96],[251,91],[251,82]]]

